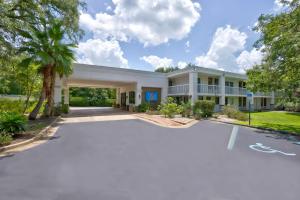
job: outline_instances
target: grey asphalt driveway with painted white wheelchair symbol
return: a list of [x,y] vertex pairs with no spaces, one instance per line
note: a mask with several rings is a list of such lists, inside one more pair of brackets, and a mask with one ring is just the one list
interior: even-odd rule
[[[65,123],[47,143],[0,158],[0,199],[299,199],[293,138],[232,129],[210,121],[186,129],[137,119]],[[256,143],[274,151],[249,148]]]

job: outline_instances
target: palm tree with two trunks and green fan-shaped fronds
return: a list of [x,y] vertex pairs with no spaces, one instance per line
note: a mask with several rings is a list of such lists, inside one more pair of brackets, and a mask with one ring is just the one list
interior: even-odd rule
[[39,101],[29,115],[31,120],[36,119],[45,100],[47,100],[45,115],[52,116],[54,114],[53,94],[56,74],[61,78],[72,73],[74,61],[72,48],[76,47],[73,43],[64,43],[65,32],[61,21],[53,20],[47,25],[41,24],[41,27],[31,27],[31,34],[26,35],[28,41],[24,42],[20,48],[20,52],[28,55],[21,65],[37,64],[38,71],[43,77]]

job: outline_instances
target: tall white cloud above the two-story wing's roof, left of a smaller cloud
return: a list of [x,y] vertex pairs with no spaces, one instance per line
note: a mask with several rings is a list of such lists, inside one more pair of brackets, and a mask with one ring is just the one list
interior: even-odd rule
[[244,50],[247,35],[227,25],[219,27],[208,52],[195,58],[196,64],[203,67],[239,72],[236,54]]

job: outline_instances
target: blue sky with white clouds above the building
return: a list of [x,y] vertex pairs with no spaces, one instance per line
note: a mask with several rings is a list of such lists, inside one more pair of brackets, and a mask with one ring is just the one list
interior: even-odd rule
[[187,63],[244,73],[262,60],[252,28],[279,0],[86,0],[78,63],[154,71]]

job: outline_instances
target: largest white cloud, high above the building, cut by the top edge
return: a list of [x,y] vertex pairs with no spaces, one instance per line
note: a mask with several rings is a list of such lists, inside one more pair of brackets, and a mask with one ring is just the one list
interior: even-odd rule
[[100,12],[92,17],[82,13],[80,25],[96,38],[134,38],[145,46],[186,37],[201,10],[200,4],[191,0],[113,0],[113,4],[113,14]]

